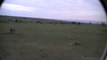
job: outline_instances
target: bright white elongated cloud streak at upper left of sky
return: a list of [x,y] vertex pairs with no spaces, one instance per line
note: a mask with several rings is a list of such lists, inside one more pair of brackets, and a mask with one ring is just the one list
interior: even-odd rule
[[28,6],[9,4],[9,3],[4,3],[2,9],[12,10],[12,11],[25,11],[25,12],[33,12],[34,10],[36,10],[35,7],[28,7]]

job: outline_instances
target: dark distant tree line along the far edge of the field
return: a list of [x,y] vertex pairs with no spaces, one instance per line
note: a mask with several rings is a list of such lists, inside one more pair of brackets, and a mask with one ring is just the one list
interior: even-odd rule
[[[84,23],[81,22],[65,22],[65,21],[52,21],[52,20],[42,20],[42,19],[36,19],[36,20],[19,20],[19,19],[8,19],[8,20],[0,20],[0,23],[37,23],[37,24],[43,24],[43,23],[47,23],[47,24],[76,24],[76,25],[81,25]],[[92,24],[87,23],[87,24]],[[101,26],[106,26],[107,24],[105,23],[101,23]]]

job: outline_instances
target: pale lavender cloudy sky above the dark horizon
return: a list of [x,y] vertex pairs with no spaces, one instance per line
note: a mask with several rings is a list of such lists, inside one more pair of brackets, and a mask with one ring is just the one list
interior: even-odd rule
[[5,0],[0,15],[106,22],[99,0]]

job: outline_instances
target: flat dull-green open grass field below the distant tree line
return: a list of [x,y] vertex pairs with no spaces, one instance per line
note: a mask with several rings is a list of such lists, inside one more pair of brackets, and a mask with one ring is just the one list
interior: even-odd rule
[[[99,60],[107,26],[0,23],[2,60]],[[15,28],[14,34],[9,33]],[[72,40],[79,45],[72,45]]]

